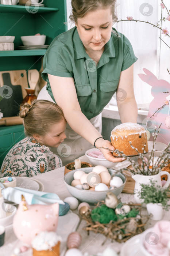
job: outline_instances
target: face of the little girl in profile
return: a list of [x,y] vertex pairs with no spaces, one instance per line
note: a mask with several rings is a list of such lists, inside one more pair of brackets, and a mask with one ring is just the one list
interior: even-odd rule
[[59,123],[54,124],[50,131],[44,136],[39,136],[39,138],[34,137],[41,145],[47,147],[59,147],[59,145],[66,138],[65,135],[66,121],[63,119]]

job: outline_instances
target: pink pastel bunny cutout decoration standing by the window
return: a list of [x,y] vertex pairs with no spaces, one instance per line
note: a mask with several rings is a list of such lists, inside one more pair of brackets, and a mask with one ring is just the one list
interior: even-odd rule
[[[164,101],[170,94],[163,93],[163,91],[170,92],[170,83],[168,83],[166,80],[158,80],[157,77],[146,68],[143,68],[143,71],[146,73],[146,75],[138,74],[138,76],[140,79],[142,79],[142,81],[152,86],[151,94],[154,97],[149,106],[149,112],[147,115],[148,120],[148,118],[151,117],[155,111],[158,110],[158,108],[161,108],[161,106],[165,104]],[[155,113],[150,121],[148,121],[147,130],[151,133],[151,141],[153,140],[152,132],[154,131],[155,125],[158,127],[162,123],[161,131],[158,133],[157,142],[162,142],[165,144],[170,142],[170,129],[165,125],[165,118],[168,116],[169,105],[166,105],[164,108],[161,108],[157,113]]]

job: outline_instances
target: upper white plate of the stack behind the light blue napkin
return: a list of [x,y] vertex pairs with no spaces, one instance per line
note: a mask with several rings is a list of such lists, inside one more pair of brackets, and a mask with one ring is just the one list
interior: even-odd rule
[[16,176],[16,187],[27,188],[39,191],[39,184],[36,180],[28,177],[18,177]]

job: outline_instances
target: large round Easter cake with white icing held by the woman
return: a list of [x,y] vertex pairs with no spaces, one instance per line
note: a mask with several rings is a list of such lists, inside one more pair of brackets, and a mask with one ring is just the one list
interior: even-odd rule
[[[139,155],[144,150],[144,153],[148,153],[147,134],[140,124],[123,123],[117,125],[111,132],[111,143],[115,149],[123,151],[127,156]],[[144,145],[146,146],[144,147]],[[113,156],[118,157],[118,154],[113,152]]]

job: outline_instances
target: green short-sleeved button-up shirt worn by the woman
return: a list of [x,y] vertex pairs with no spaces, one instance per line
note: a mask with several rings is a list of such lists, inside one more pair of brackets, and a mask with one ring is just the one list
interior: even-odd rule
[[137,60],[130,41],[113,31],[97,66],[86,53],[77,27],[53,40],[45,53],[41,75],[54,101],[47,74],[74,79],[81,111],[88,119],[103,110],[117,89],[120,72]]

